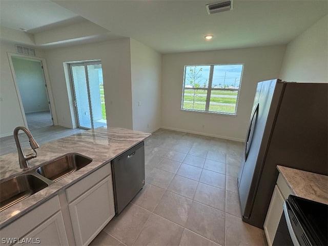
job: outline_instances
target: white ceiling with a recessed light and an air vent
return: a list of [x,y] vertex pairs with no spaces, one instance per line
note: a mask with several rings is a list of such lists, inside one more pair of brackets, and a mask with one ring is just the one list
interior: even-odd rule
[[[0,25],[35,34],[85,18],[110,31],[109,39],[132,37],[176,53],[288,44],[328,12],[327,0],[234,0],[233,10],[208,15],[213,2],[0,0]],[[206,41],[206,34],[214,38]]]

